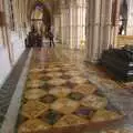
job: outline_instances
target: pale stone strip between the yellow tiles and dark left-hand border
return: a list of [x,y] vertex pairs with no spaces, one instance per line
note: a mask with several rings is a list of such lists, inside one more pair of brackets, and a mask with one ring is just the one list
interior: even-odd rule
[[22,96],[22,92],[24,89],[23,85],[27,80],[27,73],[28,73],[28,68],[30,64],[31,55],[32,55],[32,50],[28,54],[28,59],[27,59],[24,69],[22,71],[20,79],[18,81],[18,84],[16,86],[16,92],[13,93],[13,96],[11,99],[8,112],[4,115],[4,121],[1,126],[0,133],[14,133],[14,126],[16,126],[16,122],[18,119],[19,109],[21,105],[21,96]]

